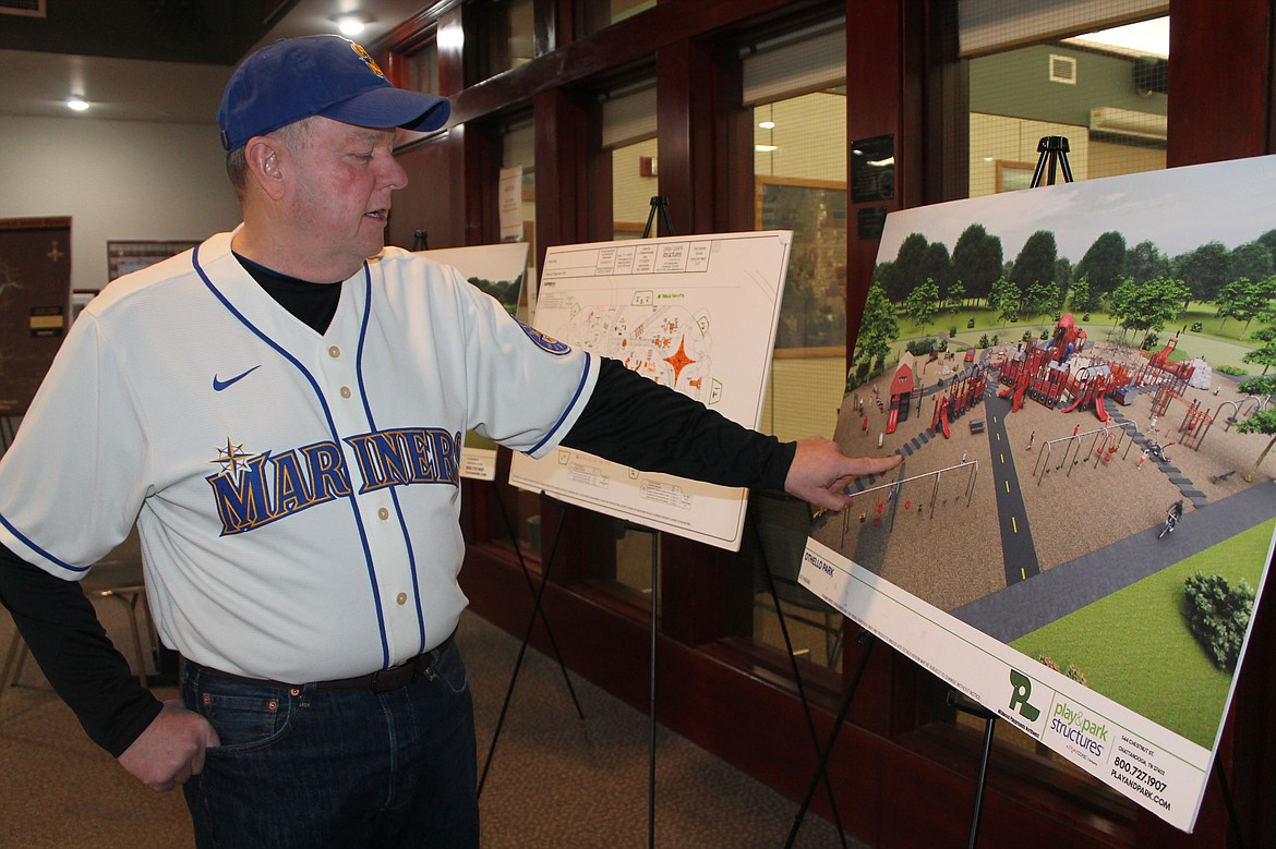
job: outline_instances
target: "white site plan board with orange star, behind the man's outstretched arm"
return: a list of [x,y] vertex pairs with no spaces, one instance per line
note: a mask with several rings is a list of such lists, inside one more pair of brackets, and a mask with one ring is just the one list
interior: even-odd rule
[[[546,251],[536,328],[624,362],[746,427],[758,427],[790,231],[669,236]],[[739,551],[748,492],[651,474],[559,447],[516,454],[532,492]]]

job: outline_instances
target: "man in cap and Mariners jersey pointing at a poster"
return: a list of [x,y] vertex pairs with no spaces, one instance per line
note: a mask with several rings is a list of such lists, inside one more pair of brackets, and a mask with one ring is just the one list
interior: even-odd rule
[[[448,108],[336,36],[246,59],[218,112],[242,226],[94,298],[0,461],[0,598],[89,736],[184,785],[202,846],[477,846],[466,430],[835,510],[900,461],[731,424],[384,249],[396,127]],[[134,523],[184,658],[162,705],[71,583]]]

